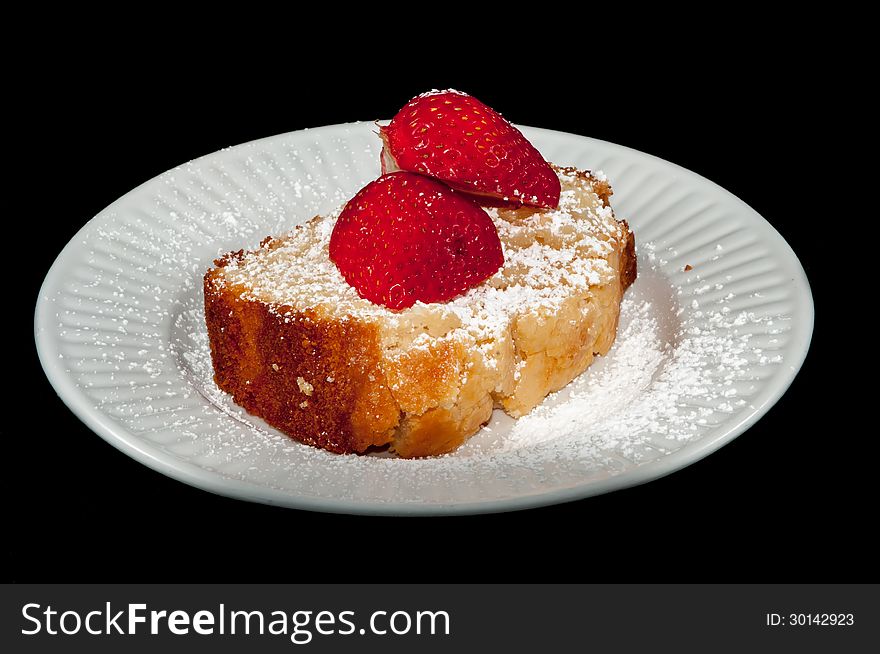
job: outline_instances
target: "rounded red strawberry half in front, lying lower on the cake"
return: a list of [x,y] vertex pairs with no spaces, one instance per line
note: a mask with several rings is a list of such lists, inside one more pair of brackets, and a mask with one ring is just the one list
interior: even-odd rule
[[451,300],[504,263],[483,209],[407,172],[383,175],[345,205],[330,236],[330,259],[358,295],[395,310]]

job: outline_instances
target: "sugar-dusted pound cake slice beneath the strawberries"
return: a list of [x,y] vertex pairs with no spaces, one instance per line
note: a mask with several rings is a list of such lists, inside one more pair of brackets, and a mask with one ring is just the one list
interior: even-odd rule
[[494,407],[528,413],[608,352],[636,277],[604,176],[554,171],[558,208],[487,209],[504,265],[446,303],[392,311],[361,298],[328,255],[336,215],[218,259],[204,279],[218,386],[339,453],[443,454]]

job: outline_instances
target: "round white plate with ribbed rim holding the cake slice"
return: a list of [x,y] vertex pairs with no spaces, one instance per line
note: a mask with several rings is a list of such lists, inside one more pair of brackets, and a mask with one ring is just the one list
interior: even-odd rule
[[71,410],[136,460],[215,493],[322,511],[475,513],[657,478],[729,442],[788,388],[813,305],[766,221],[666,161],[524,127],[548,160],[604,170],[635,231],[639,279],[611,353],[537,415],[515,425],[496,411],[488,430],[440,458],[329,454],[249,418],[211,380],[202,275],[218,254],[328,211],[378,176],[374,129],[335,125],[222,150],[83,227],[46,276],[35,316],[40,360]]

